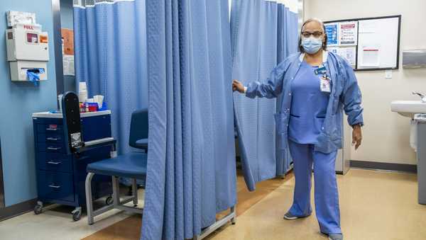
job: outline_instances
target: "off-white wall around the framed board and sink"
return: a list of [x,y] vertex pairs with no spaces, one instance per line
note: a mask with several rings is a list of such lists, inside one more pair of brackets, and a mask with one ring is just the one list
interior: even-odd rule
[[364,102],[364,140],[351,150],[352,160],[416,164],[410,148],[410,120],[392,113],[393,100],[417,100],[411,91],[426,92],[426,69],[403,69],[402,50],[426,48],[425,0],[305,0],[305,18],[323,21],[402,15],[400,69],[393,79],[384,71],[356,72]]

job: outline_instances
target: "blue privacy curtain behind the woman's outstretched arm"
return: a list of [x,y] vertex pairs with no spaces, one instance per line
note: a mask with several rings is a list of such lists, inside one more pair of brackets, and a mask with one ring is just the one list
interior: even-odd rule
[[[231,7],[232,78],[244,85],[264,81],[273,67],[297,52],[297,14],[266,0],[233,0]],[[275,147],[275,99],[249,99],[234,93],[237,133],[246,185],[287,171],[286,151]]]

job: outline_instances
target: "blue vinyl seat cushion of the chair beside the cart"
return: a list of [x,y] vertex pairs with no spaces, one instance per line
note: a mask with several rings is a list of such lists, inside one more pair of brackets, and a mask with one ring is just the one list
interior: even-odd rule
[[130,152],[112,159],[96,161],[87,165],[87,172],[125,178],[146,178],[146,157],[143,152]]

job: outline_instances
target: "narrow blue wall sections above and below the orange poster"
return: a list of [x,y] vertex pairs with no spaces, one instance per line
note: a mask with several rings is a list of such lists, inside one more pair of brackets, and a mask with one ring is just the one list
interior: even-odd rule
[[[72,0],[60,0],[60,25],[62,28],[73,29]],[[76,91],[75,76],[64,76],[64,88],[66,91]]]

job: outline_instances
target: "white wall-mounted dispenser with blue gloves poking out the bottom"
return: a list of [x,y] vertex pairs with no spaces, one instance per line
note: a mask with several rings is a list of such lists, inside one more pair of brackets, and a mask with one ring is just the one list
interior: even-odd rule
[[[13,16],[11,16],[13,13]],[[35,23],[33,13],[8,11],[12,28],[6,30],[7,60],[12,81],[40,81],[48,79],[48,33]],[[28,16],[33,16],[28,23]],[[25,21],[20,22],[21,19]]]

